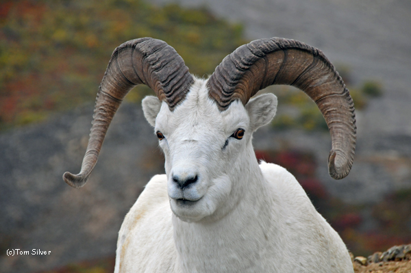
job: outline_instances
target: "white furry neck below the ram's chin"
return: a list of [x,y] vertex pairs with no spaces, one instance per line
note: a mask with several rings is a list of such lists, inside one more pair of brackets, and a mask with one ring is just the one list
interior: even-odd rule
[[223,218],[187,223],[173,216],[175,244],[185,272],[254,271],[269,258],[273,246],[268,238],[275,237],[273,196],[256,159],[246,160],[247,172],[242,168],[243,172],[232,174],[234,187],[240,189],[236,194],[241,196],[233,197],[236,205]]

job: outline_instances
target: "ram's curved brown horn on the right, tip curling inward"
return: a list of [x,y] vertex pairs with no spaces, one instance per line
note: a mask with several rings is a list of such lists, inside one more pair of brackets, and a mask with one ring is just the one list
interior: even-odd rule
[[273,84],[295,86],[316,103],[332,138],[329,175],[346,177],[356,148],[353,100],[319,49],[284,38],[255,40],[227,55],[207,83],[209,96],[221,111],[236,99],[245,105],[259,90]]

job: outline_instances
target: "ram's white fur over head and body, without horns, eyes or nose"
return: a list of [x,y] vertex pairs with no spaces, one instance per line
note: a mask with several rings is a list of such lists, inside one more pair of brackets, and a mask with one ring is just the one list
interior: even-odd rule
[[[165,136],[166,175],[153,177],[127,213],[114,272],[353,272],[345,244],[295,177],[258,165],[252,133],[276,106],[265,94],[220,112],[201,79],[173,112],[143,101]],[[230,137],[238,128],[241,140]],[[173,181],[195,176],[184,190]]]

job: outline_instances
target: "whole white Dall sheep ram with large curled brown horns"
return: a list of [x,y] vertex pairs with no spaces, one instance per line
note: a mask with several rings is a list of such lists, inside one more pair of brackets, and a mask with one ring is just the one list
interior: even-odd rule
[[338,233],[317,213],[295,177],[258,164],[251,137],[275,115],[273,84],[295,86],[323,114],[332,138],[329,174],[347,176],[356,146],[353,101],[327,57],[302,42],[261,39],[227,55],[208,79],[190,75],[166,42],[130,40],[112,54],[97,94],[82,187],[105,133],[131,88],[157,96],[142,108],[166,159],[127,213],[115,272],[353,272]]

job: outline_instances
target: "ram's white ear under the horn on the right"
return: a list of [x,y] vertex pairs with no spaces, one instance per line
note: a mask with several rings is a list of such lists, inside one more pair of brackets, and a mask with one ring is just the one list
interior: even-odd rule
[[256,131],[274,118],[277,111],[277,96],[271,93],[257,96],[245,105],[245,109],[249,114],[251,130]]

